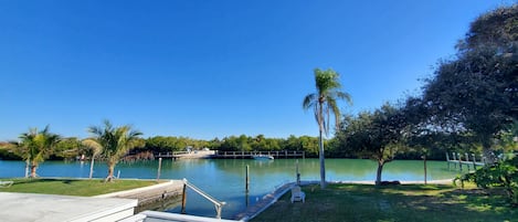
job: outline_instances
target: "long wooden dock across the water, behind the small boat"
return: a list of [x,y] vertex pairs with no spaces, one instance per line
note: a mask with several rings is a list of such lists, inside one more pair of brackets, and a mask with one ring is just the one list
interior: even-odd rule
[[253,159],[254,156],[272,156],[275,159],[306,158],[305,151],[216,151],[212,158],[215,159]]

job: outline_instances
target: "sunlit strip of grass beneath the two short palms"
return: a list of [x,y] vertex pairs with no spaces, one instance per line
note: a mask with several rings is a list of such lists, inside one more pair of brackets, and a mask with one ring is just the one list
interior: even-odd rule
[[[7,179],[2,179],[7,180]],[[102,179],[9,179],[14,181],[10,188],[0,188],[0,192],[28,192],[64,195],[98,195],[134,188],[157,184],[150,180],[115,180],[104,182]]]

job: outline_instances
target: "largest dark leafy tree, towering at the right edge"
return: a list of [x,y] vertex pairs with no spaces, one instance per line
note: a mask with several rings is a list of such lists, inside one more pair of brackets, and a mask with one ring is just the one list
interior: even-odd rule
[[469,135],[493,157],[494,138],[518,118],[518,6],[475,20],[454,60],[426,81],[423,104],[440,130]]

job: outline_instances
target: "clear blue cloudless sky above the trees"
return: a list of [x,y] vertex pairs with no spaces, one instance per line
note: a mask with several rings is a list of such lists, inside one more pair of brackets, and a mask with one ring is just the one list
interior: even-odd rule
[[144,137],[317,136],[302,109],[315,67],[340,73],[343,113],[377,108],[419,93],[503,2],[2,0],[0,140],[85,138],[103,119]]

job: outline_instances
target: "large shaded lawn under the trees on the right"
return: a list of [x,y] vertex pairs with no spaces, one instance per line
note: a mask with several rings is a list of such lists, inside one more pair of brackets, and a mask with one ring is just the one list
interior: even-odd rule
[[518,221],[498,191],[452,186],[328,184],[303,187],[306,203],[287,192],[252,222],[260,221]]

